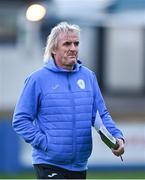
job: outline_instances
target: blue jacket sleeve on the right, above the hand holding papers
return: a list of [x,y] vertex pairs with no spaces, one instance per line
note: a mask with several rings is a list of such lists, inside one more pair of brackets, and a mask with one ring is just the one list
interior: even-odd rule
[[102,93],[100,91],[96,76],[94,74],[93,77],[93,91],[94,91],[94,105],[93,105],[93,122],[95,122],[96,113],[99,112],[99,115],[102,119],[102,123],[105,125],[107,130],[115,137],[115,138],[123,138],[122,132],[116,127],[115,122],[110,116],[105,101],[103,99]]

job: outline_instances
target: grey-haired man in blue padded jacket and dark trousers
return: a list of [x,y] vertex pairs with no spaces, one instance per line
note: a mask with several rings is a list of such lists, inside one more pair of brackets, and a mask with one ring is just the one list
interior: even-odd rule
[[118,139],[124,138],[109,115],[95,74],[78,60],[80,28],[62,22],[48,36],[45,65],[25,81],[15,108],[13,128],[32,145],[32,163],[40,179],[85,179],[92,151],[96,112]]

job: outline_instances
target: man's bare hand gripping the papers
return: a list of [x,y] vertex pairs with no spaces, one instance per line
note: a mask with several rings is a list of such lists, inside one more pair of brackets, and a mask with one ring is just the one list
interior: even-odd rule
[[117,139],[119,147],[117,149],[112,149],[115,156],[121,156],[124,153],[124,141],[123,139]]

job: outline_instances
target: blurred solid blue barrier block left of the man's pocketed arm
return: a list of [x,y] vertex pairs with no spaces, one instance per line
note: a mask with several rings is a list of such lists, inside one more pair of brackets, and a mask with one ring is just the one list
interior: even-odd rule
[[19,139],[11,126],[11,120],[0,119],[0,172],[16,172],[20,169]]

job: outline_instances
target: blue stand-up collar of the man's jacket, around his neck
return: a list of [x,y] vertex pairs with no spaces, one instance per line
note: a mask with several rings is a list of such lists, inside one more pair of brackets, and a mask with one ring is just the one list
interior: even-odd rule
[[53,58],[49,59],[48,62],[44,65],[45,68],[47,68],[47,69],[49,69],[51,71],[55,71],[55,72],[77,72],[77,71],[79,71],[81,66],[82,66],[81,61],[77,60],[77,63],[74,65],[74,69],[73,70],[66,70],[66,69],[63,69],[61,67],[58,67],[55,64]]

